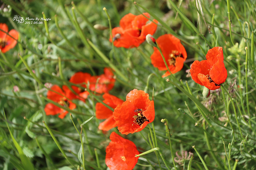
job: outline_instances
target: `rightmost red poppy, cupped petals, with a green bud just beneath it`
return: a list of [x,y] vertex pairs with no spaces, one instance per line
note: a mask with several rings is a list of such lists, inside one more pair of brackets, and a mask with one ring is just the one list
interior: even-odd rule
[[192,63],[190,69],[192,79],[210,90],[219,89],[220,84],[228,77],[223,60],[222,47],[213,47],[207,52],[206,60]]

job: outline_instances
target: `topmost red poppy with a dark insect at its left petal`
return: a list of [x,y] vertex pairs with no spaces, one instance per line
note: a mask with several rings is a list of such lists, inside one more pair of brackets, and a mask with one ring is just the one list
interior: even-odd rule
[[[146,17],[150,17],[149,13],[143,13]],[[112,35],[114,40],[114,46],[133,48],[138,47],[145,41],[146,35],[153,35],[156,31],[158,23],[157,20],[153,20],[155,23],[150,22],[146,24],[148,19],[143,15],[133,15],[128,13],[120,20],[120,27],[112,29]],[[112,42],[110,36],[110,42]]]

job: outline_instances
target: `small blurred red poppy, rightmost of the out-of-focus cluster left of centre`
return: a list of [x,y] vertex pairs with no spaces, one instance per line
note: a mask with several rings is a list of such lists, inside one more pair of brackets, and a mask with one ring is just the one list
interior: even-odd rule
[[104,74],[92,76],[89,81],[90,90],[102,94],[113,89],[116,79],[114,79],[114,74],[110,68],[104,68]]

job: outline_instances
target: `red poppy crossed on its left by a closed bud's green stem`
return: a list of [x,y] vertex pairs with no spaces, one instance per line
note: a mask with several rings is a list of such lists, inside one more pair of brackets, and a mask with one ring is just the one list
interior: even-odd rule
[[[187,52],[180,40],[171,34],[164,34],[159,36],[159,38],[156,39],[156,42],[159,45],[163,56],[165,57],[165,61],[171,73],[174,74],[180,71],[183,67],[184,61],[187,58]],[[154,47],[154,53],[150,58],[154,67],[157,67],[159,70],[167,70],[161,53],[156,47]],[[162,77],[166,77],[171,73],[167,70]]]

